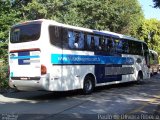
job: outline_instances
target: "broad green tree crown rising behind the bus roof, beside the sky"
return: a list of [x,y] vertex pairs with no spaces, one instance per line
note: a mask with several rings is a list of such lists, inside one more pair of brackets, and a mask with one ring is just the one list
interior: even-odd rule
[[32,0],[24,7],[24,14],[26,19],[54,19],[133,35],[144,18],[137,0]]

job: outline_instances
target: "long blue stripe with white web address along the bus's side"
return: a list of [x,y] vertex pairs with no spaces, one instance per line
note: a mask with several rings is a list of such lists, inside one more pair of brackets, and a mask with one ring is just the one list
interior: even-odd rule
[[134,59],[120,56],[51,54],[52,64],[119,64],[133,65]]

